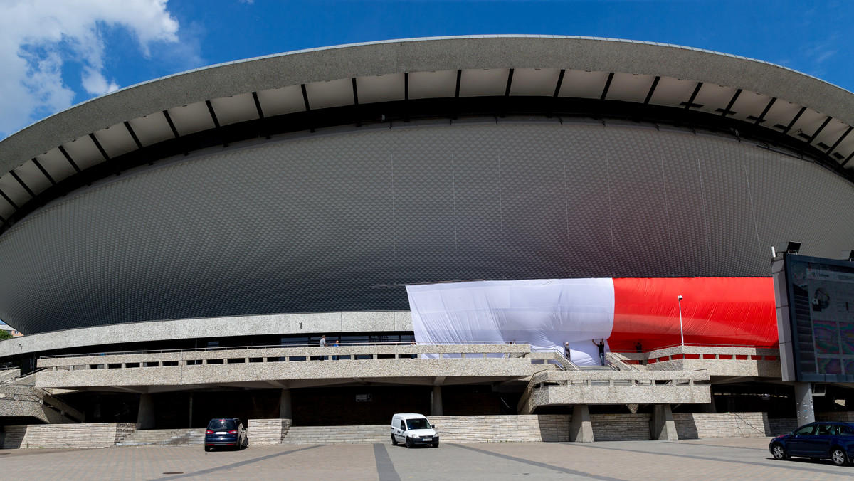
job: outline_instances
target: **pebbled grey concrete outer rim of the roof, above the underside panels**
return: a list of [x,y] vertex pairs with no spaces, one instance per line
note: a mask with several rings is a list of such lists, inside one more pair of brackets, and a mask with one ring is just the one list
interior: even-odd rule
[[558,36],[415,38],[199,68],[81,103],[0,142],[0,172],[57,145],[176,106],[334,79],[457,69],[571,68],[690,79],[808,106],[854,125],[854,94],[786,67],[670,44]]

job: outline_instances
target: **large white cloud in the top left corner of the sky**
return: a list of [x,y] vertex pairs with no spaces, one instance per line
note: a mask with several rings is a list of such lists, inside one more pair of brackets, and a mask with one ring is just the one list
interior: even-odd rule
[[114,91],[104,68],[106,28],[123,28],[143,56],[159,43],[178,43],[167,0],[0,0],[0,138],[70,107],[75,92],[62,79],[65,62],[80,65],[91,95]]

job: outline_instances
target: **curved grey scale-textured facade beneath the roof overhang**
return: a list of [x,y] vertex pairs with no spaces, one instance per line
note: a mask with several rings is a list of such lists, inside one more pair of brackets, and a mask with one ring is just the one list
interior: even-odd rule
[[854,247],[854,187],[734,138],[617,122],[348,128],[104,179],[0,237],[0,319],[405,310],[404,284],[769,276]]

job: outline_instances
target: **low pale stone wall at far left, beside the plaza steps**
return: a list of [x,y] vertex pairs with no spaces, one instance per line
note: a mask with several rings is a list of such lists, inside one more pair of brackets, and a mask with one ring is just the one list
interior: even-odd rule
[[135,423],[8,425],[3,449],[108,448],[138,428]]

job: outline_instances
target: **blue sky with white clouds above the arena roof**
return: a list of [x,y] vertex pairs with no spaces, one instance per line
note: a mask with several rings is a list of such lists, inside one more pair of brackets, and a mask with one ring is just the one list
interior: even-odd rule
[[854,91],[847,1],[0,0],[0,138],[191,68],[390,38],[534,33],[681,44]]

